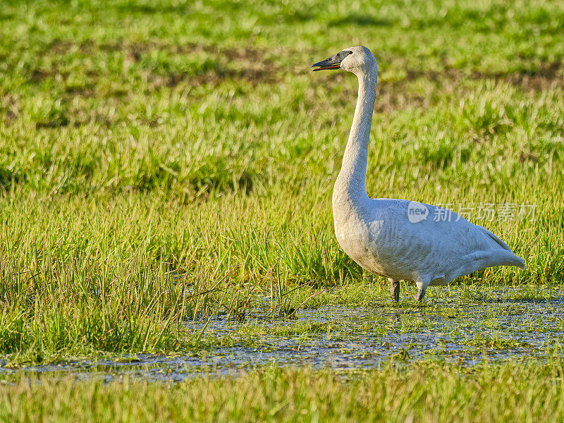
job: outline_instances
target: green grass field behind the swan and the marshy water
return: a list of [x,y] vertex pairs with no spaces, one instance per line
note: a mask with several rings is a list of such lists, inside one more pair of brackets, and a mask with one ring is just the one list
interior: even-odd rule
[[[527,260],[464,283],[563,281],[554,2],[0,13],[0,353],[168,351],[197,345],[185,319],[384,302],[385,289],[366,296],[332,229],[356,81],[309,71],[356,43],[380,70],[369,193],[468,208]],[[535,216],[489,220],[487,203]]]

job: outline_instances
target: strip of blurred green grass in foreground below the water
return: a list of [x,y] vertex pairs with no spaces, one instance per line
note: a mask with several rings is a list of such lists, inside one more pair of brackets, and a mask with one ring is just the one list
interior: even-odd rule
[[[31,422],[532,422],[563,416],[560,359],[362,374],[271,367],[180,384],[73,379],[0,386],[0,419]],[[143,404],[143,407],[138,407]]]

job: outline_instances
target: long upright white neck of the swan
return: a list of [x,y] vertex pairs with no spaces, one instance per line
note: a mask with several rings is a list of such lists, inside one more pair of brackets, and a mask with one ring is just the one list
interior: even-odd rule
[[333,189],[333,207],[336,202],[367,198],[366,166],[372,112],[376,99],[376,68],[357,74],[358,99],[353,126],[343,155],[341,172]]

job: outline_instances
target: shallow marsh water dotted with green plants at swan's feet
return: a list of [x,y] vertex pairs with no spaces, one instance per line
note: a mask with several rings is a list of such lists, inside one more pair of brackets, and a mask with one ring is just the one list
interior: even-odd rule
[[[484,360],[546,357],[564,339],[564,290],[520,295],[520,288],[490,290],[468,302],[456,293],[423,306],[326,306],[300,309],[294,319],[271,319],[257,310],[245,321],[217,316],[188,321],[187,331],[222,340],[185,355],[129,355],[71,361],[14,372],[63,372],[78,378],[133,377],[180,381],[200,374],[223,375],[264,365],[329,367],[336,372],[378,367],[389,360]],[[545,293],[546,294],[546,293]],[[212,344],[214,345],[214,344]]]

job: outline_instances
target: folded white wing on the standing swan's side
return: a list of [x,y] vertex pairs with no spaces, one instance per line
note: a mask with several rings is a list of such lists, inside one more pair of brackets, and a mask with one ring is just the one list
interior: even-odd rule
[[373,245],[378,258],[394,264],[396,269],[439,278],[486,266],[524,264],[496,235],[448,209],[421,204],[429,214],[413,221],[409,215],[412,202],[375,201],[375,216],[382,224]]

